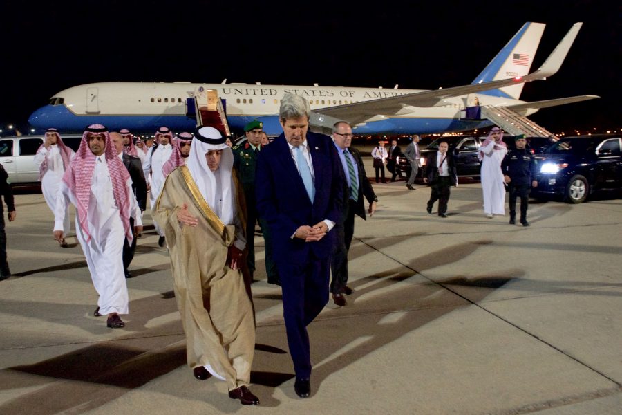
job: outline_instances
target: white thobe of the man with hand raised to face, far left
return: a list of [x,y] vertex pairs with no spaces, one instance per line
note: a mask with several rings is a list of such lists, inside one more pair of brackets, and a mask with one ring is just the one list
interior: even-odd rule
[[[73,157],[73,150],[71,156]],[[48,208],[55,213],[56,199],[58,198],[58,192],[60,185],[63,181],[63,174],[65,173],[65,167],[63,165],[63,158],[61,157],[60,150],[57,145],[50,145],[50,149],[41,147],[37,154],[35,154],[35,164],[40,166],[41,163],[47,160],[48,170],[41,178],[41,192],[44,194],[44,199],[48,204]],[[63,219],[63,228],[65,233],[68,234],[71,230],[71,219],[69,218],[69,205],[65,210],[65,216]]]

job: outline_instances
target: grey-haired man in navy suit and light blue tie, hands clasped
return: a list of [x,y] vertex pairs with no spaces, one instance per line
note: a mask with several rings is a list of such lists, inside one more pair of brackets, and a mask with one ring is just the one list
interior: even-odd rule
[[283,317],[296,371],[294,390],[311,393],[307,326],[328,302],[331,232],[341,217],[343,172],[330,137],[308,132],[307,100],[286,93],[279,122],[283,133],[257,160],[256,198],[270,228],[283,289]]

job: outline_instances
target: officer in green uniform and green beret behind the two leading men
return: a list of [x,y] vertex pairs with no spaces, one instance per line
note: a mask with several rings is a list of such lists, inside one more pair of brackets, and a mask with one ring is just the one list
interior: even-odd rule
[[[261,136],[263,133],[263,123],[253,120],[244,127],[246,133],[246,142],[232,147],[234,154],[234,167],[238,174],[238,178],[244,189],[246,199],[246,246],[248,247],[247,266],[249,277],[252,281],[255,272],[255,222],[257,221],[257,203],[255,198],[255,171],[256,161],[259,152],[263,148],[261,145]],[[265,270],[267,280],[270,284],[281,284],[279,276],[276,273],[276,265],[272,261],[272,244],[270,243],[270,233],[267,225],[259,219],[263,239],[265,239]]]

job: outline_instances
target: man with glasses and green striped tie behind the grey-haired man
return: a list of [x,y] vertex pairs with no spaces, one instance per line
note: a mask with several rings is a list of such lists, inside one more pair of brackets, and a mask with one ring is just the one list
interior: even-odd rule
[[355,214],[366,220],[363,196],[369,202],[369,216],[376,211],[378,198],[374,193],[371,183],[365,173],[361,154],[357,149],[350,147],[352,144],[352,127],[344,121],[339,121],[332,126],[332,139],[337,154],[341,160],[343,179],[343,210],[341,220],[334,225],[337,234],[337,244],[330,259],[332,281],[330,292],[332,301],[338,306],[346,306],[348,302],[344,295],[352,294],[352,288],[348,287],[348,251],[354,234]]

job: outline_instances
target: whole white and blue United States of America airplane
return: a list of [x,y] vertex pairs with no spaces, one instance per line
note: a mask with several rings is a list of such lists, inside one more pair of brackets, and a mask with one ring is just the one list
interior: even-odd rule
[[[192,131],[197,124],[206,123],[202,110],[211,107],[226,113],[232,131],[242,131],[247,122],[257,119],[263,122],[267,134],[278,135],[282,131],[278,117],[280,98],[284,93],[294,93],[310,102],[310,127],[315,131],[330,131],[339,120],[350,122],[357,135],[480,129],[507,121],[507,114],[522,118],[541,108],[599,98],[579,95],[538,102],[519,100],[525,82],[545,80],[559,70],[581,26],[582,23],[574,24],[544,64],[529,73],[545,24],[525,23],[468,85],[417,90],[397,89],[397,85],[395,89],[382,89],[227,84],[227,80],[220,84],[100,82],[60,91],[48,105],[33,112],[28,122],[36,129],[55,127],[65,132],[81,132],[94,123],[111,130],[126,128],[146,133],[162,126],[173,131]],[[481,108],[491,119],[480,114],[474,118],[467,116],[474,107]],[[502,116],[501,109],[505,111]],[[492,120],[493,112],[499,112],[497,122]],[[529,124],[527,118],[517,122],[525,128]]]

